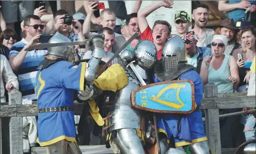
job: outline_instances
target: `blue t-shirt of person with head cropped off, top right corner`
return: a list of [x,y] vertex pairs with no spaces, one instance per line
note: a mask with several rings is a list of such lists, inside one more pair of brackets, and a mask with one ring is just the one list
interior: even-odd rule
[[[240,3],[241,1],[228,1],[229,4],[236,4]],[[255,1],[248,1],[251,3],[251,5],[255,5]],[[233,18],[234,22],[237,21],[237,19],[240,19],[242,17],[245,17],[245,10],[243,9],[235,9],[232,11],[229,11],[228,17],[231,19]]]

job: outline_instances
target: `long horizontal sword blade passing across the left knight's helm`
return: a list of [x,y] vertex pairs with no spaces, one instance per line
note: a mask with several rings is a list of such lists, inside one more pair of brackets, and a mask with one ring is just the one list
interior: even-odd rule
[[82,42],[47,43],[47,44],[40,44],[40,45],[28,47],[27,49],[25,49],[25,51],[34,50],[34,49],[42,50],[48,47],[56,47],[56,46],[88,45],[88,43],[89,43],[89,40],[82,41]]

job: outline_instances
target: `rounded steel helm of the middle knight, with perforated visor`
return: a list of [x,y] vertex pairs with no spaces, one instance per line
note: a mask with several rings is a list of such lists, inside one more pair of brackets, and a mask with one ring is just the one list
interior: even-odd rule
[[157,61],[157,49],[154,43],[149,40],[143,40],[138,43],[134,50],[137,65],[143,69],[152,68]]

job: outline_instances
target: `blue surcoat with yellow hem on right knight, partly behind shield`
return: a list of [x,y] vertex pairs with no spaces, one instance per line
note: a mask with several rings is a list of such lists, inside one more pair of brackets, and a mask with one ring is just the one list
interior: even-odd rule
[[[199,107],[203,98],[203,81],[199,74],[190,70],[184,72],[179,80],[191,80],[195,87],[195,102]],[[154,77],[154,82],[161,82]],[[180,122],[178,122],[180,119]],[[178,126],[179,123],[179,126]],[[202,142],[207,140],[204,133],[204,125],[202,113],[199,108],[188,115],[177,115],[170,113],[157,114],[158,132],[164,133],[167,136],[167,142],[170,142],[171,137],[174,137],[176,147],[186,146],[188,144]]]

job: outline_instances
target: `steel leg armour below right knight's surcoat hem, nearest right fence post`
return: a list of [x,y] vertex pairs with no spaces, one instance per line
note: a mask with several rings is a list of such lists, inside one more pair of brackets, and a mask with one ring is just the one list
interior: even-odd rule
[[191,154],[212,154],[206,141],[190,144],[184,147],[185,151]]

